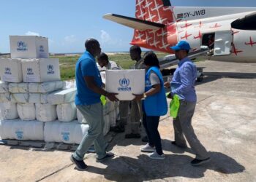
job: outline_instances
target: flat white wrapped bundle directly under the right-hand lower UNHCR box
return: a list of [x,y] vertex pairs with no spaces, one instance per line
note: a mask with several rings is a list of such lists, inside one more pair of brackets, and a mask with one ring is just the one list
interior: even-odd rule
[[48,93],[61,90],[65,83],[63,81],[29,83],[29,92],[31,93]]

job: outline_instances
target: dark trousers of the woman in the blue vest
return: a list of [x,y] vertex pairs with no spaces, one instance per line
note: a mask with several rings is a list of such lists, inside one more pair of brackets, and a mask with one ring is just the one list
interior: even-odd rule
[[146,116],[145,113],[143,114],[143,126],[146,129],[146,134],[148,135],[148,144],[150,146],[155,146],[157,154],[162,155],[162,143],[157,130],[159,119],[160,116]]

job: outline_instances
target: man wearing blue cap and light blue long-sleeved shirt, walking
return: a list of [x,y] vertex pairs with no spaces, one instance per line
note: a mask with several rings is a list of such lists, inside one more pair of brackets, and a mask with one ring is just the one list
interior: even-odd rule
[[196,157],[192,160],[192,165],[202,165],[210,160],[209,154],[200,143],[195,135],[192,127],[192,116],[197,103],[197,95],[195,93],[195,80],[197,79],[197,68],[195,64],[187,58],[190,50],[187,41],[179,41],[176,46],[170,47],[175,51],[176,58],[179,60],[178,68],[173,74],[171,82],[166,82],[165,87],[171,87],[170,97],[178,95],[180,99],[180,108],[178,116],[173,119],[173,127],[175,132],[175,141],[173,145],[179,147],[187,147],[185,137],[189,146],[195,151]]

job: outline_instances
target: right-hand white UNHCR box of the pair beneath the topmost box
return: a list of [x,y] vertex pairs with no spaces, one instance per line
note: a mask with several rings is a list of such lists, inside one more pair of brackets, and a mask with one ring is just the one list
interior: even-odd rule
[[59,59],[22,60],[23,82],[59,81]]

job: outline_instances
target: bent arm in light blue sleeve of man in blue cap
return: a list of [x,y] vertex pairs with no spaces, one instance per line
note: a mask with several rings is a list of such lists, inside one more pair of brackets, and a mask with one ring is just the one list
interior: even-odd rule
[[187,64],[180,70],[180,76],[181,76],[181,86],[176,88],[175,90],[171,90],[171,94],[184,94],[188,92],[194,83],[193,80],[193,70],[192,66]]

